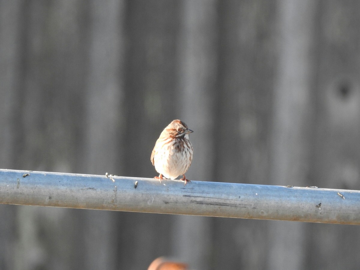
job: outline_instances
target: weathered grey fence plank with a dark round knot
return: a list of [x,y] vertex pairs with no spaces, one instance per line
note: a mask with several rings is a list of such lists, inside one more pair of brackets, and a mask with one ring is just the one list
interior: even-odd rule
[[[320,1],[316,9],[314,82],[316,133],[313,177],[317,186],[360,189],[359,1]],[[310,224],[306,249],[313,268],[360,265],[359,229]]]

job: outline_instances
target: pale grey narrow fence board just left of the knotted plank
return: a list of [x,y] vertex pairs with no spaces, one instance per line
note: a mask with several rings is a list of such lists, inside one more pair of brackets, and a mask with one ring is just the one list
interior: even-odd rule
[[[311,51],[314,35],[314,1],[279,1],[278,61],[274,84],[273,127],[270,145],[271,184],[309,185],[312,105]],[[315,179],[314,179],[315,180]],[[310,185],[320,185],[310,184]],[[271,269],[302,269],[306,224],[272,223],[268,263]],[[291,231],[284,233],[284,231]],[[287,246],[285,243],[292,243]]]

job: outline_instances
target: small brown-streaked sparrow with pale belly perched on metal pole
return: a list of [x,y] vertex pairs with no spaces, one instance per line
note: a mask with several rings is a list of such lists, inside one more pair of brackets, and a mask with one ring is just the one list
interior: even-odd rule
[[191,182],[185,177],[193,160],[193,145],[189,140],[191,132],[193,131],[180,120],[172,121],[161,132],[150,158],[160,174],[154,178],[158,178],[160,183],[161,179],[175,179],[179,175],[183,175],[180,180],[185,181],[184,185]]

